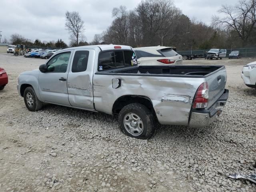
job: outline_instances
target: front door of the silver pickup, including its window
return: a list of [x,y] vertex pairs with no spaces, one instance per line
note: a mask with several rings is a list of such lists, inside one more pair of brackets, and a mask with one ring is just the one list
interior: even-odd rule
[[40,72],[39,94],[44,102],[70,106],[67,78],[72,51],[56,54],[46,63],[48,72]]

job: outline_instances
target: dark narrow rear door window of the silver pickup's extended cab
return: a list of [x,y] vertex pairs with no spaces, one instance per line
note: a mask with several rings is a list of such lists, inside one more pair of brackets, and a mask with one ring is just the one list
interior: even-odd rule
[[72,72],[86,71],[89,51],[76,51],[72,63]]

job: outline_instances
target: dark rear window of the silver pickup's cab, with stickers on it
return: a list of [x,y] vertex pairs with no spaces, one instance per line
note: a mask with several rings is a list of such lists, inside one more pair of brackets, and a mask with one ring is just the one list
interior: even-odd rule
[[137,58],[132,50],[111,50],[100,52],[98,71],[136,66]]

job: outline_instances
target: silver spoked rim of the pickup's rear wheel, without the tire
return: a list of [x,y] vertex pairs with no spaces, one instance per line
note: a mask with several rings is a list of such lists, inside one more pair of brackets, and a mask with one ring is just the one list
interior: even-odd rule
[[139,136],[144,130],[142,119],[135,113],[128,113],[124,116],[124,127],[133,136]]

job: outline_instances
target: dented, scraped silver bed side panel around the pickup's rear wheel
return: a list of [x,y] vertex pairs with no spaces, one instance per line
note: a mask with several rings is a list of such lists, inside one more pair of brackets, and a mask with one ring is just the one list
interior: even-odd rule
[[[121,80],[112,88],[112,79]],[[188,125],[193,98],[204,78],[94,75],[94,103],[98,111],[112,114],[114,102],[124,95],[150,98],[161,124]],[[99,86],[100,85],[100,86]]]

